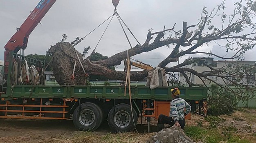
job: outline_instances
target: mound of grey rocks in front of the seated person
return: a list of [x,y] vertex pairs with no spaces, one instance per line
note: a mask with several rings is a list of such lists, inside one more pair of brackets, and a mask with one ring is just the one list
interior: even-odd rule
[[183,132],[181,127],[172,126],[152,136],[147,143],[195,143]]

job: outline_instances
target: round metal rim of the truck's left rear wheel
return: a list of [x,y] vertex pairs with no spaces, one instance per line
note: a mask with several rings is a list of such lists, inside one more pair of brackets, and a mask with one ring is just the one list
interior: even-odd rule
[[92,123],[95,120],[94,112],[90,109],[84,109],[80,112],[79,121],[82,125],[89,126],[92,125]]

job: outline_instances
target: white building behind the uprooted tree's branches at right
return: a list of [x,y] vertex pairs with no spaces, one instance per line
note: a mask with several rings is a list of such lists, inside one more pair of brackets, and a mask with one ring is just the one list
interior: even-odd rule
[[[242,65],[245,65],[245,66],[254,65],[254,66],[256,66],[256,61],[251,61],[251,60],[242,60],[242,61],[234,62],[234,61],[227,61],[227,60],[215,61],[215,60],[213,60],[213,58],[202,58],[202,59],[205,60],[204,63],[213,67],[214,69],[220,69],[220,68],[229,68],[230,69],[230,68],[236,68],[236,67],[239,67],[239,66],[242,66]],[[191,65],[186,65],[184,67],[193,69],[193,70],[195,70],[199,73],[211,72],[211,69],[209,67],[204,66],[200,62],[193,63]],[[185,74],[188,76],[191,83],[203,85],[202,80],[198,76],[195,76],[190,72],[185,72]],[[225,74],[223,76],[229,76],[229,75]],[[243,80],[239,81],[240,84],[244,84],[244,85],[255,84],[255,82],[256,82],[255,75],[244,75],[244,76],[247,76],[249,78],[244,78]],[[229,77],[229,80],[227,80],[227,79],[223,80],[222,78],[216,77],[216,76],[212,76],[212,77],[208,76],[208,78],[210,78],[211,80],[214,80],[216,83],[218,83],[220,85],[226,85],[226,84],[231,85],[232,82],[230,82],[229,80],[232,80],[233,82],[237,82],[237,78],[234,78],[234,77]],[[202,79],[204,80],[204,83],[206,83],[206,84],[213,84],[213,82],[210,81],[210,80],[206,80],[204,78],[202,78]],[[180,82],[185,84],[185,85],[188,85],[187,82],[186,82],[186,78],[182,74],[180,76]]]

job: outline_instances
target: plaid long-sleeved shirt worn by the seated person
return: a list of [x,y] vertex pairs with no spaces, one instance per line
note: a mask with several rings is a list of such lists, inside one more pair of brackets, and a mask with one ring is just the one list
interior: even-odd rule
[[174,121],[183,120],[184,114],[187,115],[191,111],[191,106],[182,98],[173,99],[170,108],[170,117],[173,117]]

